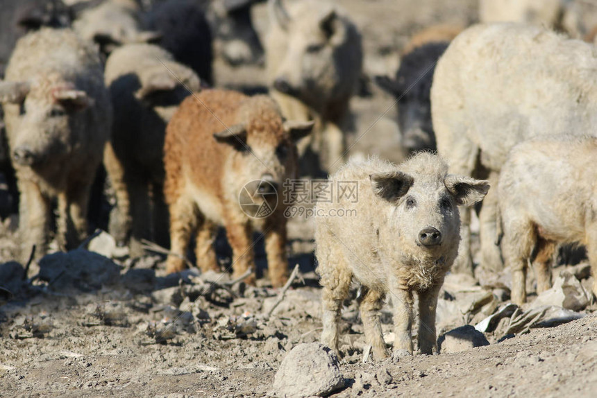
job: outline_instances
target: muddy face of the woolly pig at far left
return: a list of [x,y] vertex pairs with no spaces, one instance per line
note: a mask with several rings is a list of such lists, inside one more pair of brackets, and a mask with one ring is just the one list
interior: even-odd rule
[[41,166],[72,149],[72,115],[92,100],[71,83],[37,81],[18,107],[17,126],[11,136],[12,162],[17,166]]

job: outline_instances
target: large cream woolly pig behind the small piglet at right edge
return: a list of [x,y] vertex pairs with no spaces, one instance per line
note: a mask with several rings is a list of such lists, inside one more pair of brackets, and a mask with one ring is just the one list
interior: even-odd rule
[[[535,136],[585,134],[597,124],[595,47],[546,28],[480,24],[460,33],[437,62],[431,113],[437,151],[460,175],[495,183],[510,149]],[[503,268],[496,191],[480,211],[482,267]],[[470,215],[462,212],[462,261],[472,272]]]

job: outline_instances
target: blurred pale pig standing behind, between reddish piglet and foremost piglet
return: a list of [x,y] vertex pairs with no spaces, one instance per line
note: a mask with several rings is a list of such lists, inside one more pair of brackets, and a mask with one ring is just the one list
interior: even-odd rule
[[[362,71],[362,43],[346,10],[326,1],[269,0],[266,40],[271,96],[290,120],[314,120],[310,139],[299,144],[317,154],[311,175],[342,164],[345,133],[352,130],[349,102]],[[306,170],[303,170],[306,171]],[[327,174],[327,173],[325,173]]]

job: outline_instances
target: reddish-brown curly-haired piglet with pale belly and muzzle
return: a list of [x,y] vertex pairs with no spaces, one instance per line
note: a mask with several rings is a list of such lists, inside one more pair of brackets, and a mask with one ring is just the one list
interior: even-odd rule
[[[286,218],[280,188],[285,180],[296,178],[294,143],[312,126],[312,122],[284,121],[268,96],[214,89],[180,104],[167,126],[164,147],[174,253],[167,260],[168,272],[184,268],[183,257],[195,232],[199,267],[216,269],[212,243],[217,225],[224,225],[233,248],[235,277],[254,270],[253,230],[261,230],[271,284],[286,282]],[[242,192],[255,205],[269,205],[271,214],[261,218],[247,214],[239,202]]]

